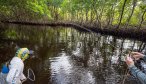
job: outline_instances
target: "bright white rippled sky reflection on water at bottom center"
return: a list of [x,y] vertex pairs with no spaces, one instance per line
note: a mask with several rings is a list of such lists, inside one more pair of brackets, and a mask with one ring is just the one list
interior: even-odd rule
[[52,58],[51,82],[53,84],[95,84],[95,77],[88,69],[74,65],[74,61],[65,53]]

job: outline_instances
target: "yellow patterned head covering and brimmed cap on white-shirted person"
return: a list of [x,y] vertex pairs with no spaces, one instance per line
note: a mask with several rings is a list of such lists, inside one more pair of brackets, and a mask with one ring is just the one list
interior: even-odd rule
[[34,54],[33,50],[28,50],[27,48],[19,48],[15,56],[21,58],[24,61],[29,57],[29,55],[32,54]]

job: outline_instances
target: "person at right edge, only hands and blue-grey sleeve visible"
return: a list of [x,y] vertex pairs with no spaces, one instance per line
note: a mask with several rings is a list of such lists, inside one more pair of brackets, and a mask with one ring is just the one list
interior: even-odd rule
[[142,84],[146,84],[146,74],[138,69],[134,64],[134,59],[143,59],[146,62],[146,55],[139,52],[131,52],[131,56],[126,56],[126,64],[131,72],[131,74],[136,77]]

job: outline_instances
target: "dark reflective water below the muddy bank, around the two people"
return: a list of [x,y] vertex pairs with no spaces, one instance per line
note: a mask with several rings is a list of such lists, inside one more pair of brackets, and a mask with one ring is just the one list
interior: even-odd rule
[[[24,73],[31,68],[36,80],[25,84],[120,84],[125,53],[144,49],[141,41],[74,28],[4,25],[0,31],[0,65],[11,60],[18,46],[35,51]],[[124,84],[138,83],[128,76]]]

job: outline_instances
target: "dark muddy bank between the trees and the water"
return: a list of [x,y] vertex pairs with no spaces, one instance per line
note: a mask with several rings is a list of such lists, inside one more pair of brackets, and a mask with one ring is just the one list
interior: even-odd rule
[[135,29],[135,28],[121,28],[116,29],[116,27],[105,27],[105,28],[99,28],[95,26],[89,26],[86,24],[78,24],[78,23],[72,23],[72,22],[50,22],[50,23],[37,23],[37,22],[19,22],[19,21],[1,21],[2,23],[11,23],[11,24],[21,24],[21,25],[33,25],[33,26],[63,26],[63,27],[73,27],[80,31],[86,31],[86,32],[96,32],[101,33],[104,35],[112,35],[116,37],[121,38],[132,38],[132,39],[138,39],[142,41],[146,41],[146,29]]

